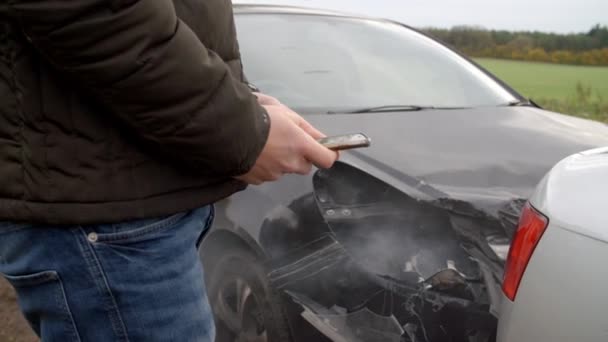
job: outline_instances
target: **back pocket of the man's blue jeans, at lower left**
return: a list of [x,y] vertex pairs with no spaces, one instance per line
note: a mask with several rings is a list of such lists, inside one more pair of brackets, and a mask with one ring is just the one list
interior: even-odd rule
[[57,272],[5,277],[17,291],[19,306],[38,336],[48,341],[80,342]]

